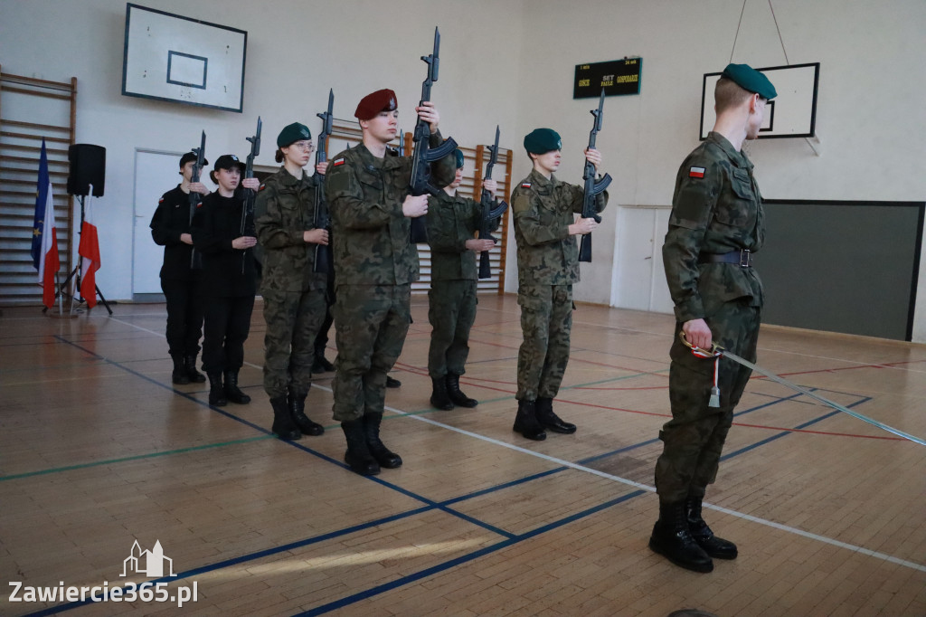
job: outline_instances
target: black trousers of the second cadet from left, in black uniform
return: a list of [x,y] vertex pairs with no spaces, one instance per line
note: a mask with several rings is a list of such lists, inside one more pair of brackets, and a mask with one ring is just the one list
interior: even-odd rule
[[237,371],[244,365],[244,341],[251,330],[254,296],[204,297],[203,371]]

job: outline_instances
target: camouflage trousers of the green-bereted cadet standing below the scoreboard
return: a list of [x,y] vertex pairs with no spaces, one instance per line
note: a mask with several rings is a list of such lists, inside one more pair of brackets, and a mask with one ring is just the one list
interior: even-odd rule
[[518,400],[553,398],[569,363],[572,285],[521,284]]

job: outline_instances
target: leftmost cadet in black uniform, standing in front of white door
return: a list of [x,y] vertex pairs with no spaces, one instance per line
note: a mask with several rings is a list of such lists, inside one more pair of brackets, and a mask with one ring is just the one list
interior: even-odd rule
[[[190,192],[208,195],[202,183],[191,182],[196,155],[188,152],[180,159],[183,181],[161,195],[151,219],[151,237],[164,246],[161,290],[168,303],[168,352],[174,369],[174,384],[202,384],[203,373],[196,371],[199,337],[203,334],[203,303],[199,296],[200,271],[193,270],[193,237],[190,235]],[[204,160],[204,164],[208,161]]]

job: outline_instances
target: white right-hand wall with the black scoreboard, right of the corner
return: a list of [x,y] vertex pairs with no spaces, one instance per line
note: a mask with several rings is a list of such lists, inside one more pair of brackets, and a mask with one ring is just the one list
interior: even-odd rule
[[[820,157],[803,139],[749,146],[763,195],[775,199],[926,199],[926,2],[922,0],[775,0],[771,3],[790,64],[820,62]],[[765,0],[560,2],[531,0],[521,43],[520,101],[543,101],[519,117],[562,134],[557,176],[578,182],[591,128],[590,99],[573,101],[576,64],[643,57],[641,94],[606,99],[597,145],[605,157],[612,205],[666,206],[682,158],[697,145],[702,75],[731,61],[786,64]],[[519,159],[516,159],[519,160]],[[526,161],[515,177],[529,170]],[[606,211],[595,232],[594,262],[582,265],[578,299],[607,304],[619,217]],[[607,227],[610,226],[610,229]],[[628,232],[630,235],[637,230]],[[640,230],[648,233],[648,230]],[[661,241],[661,237],[658,238]],[[608,246],[613,246],[610,250]],[[509,253],[508,271],[514,266]],[[926,263],[926,252],[922,263]],[[664,284],[664,283],[663,283]],[[517,283],[509,281],[508,291]],[[914,340],[926,341],[926,268],[920,269]]]

